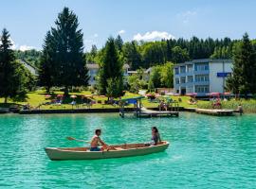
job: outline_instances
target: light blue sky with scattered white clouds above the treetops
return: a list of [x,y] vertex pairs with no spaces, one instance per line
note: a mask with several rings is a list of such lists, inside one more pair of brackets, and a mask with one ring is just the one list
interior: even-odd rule
[[16,49],[42,49],[64,7],[79,18],[85,50],[118,34],[124,42],[256,38],[256,0],[0,0],[0,29],[9,30]]

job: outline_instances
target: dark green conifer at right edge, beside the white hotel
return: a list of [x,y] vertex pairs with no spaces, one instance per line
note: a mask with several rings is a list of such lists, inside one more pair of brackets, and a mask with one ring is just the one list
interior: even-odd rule
[[228,78],[227,87],[235,94],[256,92],[256,56],[247,33],[243,40],[234,47],[232,76]]

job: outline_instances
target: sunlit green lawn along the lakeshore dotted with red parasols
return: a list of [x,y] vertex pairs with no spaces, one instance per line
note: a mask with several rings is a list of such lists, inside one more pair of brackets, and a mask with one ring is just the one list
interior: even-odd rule
[[[24,102],[13,102],[12,100],[9,100],[9,104],[4,104],[4,98],[0,98],[0,107],[9,107],[11,104],[19,104],[19,105],[26,105],[29,103],[29,105],[32,108],[38,108],[40,104],[50,102],[52,99],[56,99],[57,94],[64,94],[64,92],[61,91],[55,91],[54,94],[49,98],[46,97],[46,91],[38,90],[35,92],[31,92],[27,94],[27,99]],[[62,105],[42,105],[40,107],[41,110],[55,110],[55,109],[84,109],[87,108],[85,105],[82,105],[82,96],[83,95],[88,95],[91,94],[89,91],[82,91],[81,93],[70,93],[77,95],[76,102],[78,106],[72,107],[70,104],[71,101],[73,100],[70,97],[64,97],[64,102]],[[138,94],[131,94],[129,92],[126,92],[126,94],[122,98],[130,98],[130,97],[135,97],[139,96]],[[160,97],[162,98],[162,97]],[[209,101],[202,101],[198,100],[198,103],[196,105],[190,105],[188,103],[190,97],[189,96],[171,96],[171,98],[175,101],[178,101],[178,98],[181,98],[181,102],[179,102],[179,107],[184,107],[184,108],[205,108],[205,109],[211,109],[211,103]],[[163,98],[162,98],[163,99]],[[100,95],[93,95],[93,100],[96,101],[96,104],[93,104],[91,107],[92,109],[113,109],[113,108],[118,108],[119,106],[113,106],[113,105],[107,105],[104,104],[104,101],[107,100],[107,97],[100,96]],[[83,101],[84,102],[84,101]],[[245,112],[256,112],[256,100],[245,100],[243,99],[242,101],[238,100],[229,100],[227,102],[222,101],[222,107],[224,109],[232,109],[235,110],[237,109],[237,106],[239,103],[242,103],[243,108]],[[150,102],[147,98],[142,99],[142,104],[146,108],[156,108],[159,103],[154,103]],[[130,105],[128,107],[133,107],[133,105]]]

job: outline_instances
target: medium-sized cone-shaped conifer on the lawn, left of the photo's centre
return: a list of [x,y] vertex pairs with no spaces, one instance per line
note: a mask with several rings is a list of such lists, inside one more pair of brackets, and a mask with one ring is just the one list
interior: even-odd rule
[[[98,89],[100,94],[107,94],[109,82],[117,82],[117,93],[121,95],[123,90],[122,62],[114,38],[110,37],[105,44],[99,70]],[[111,78],[111,79],[110,79]],[[108,82],[109,81],[109,82]]]

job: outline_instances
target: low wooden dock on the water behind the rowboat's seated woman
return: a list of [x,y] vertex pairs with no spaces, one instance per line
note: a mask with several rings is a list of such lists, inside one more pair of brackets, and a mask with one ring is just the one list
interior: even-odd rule
[[141,112],[137,113],[137,117],[178,117],[179,112],[171,111],[152,111],[148,109],[141,109]]

